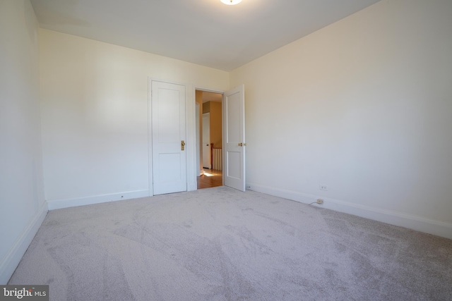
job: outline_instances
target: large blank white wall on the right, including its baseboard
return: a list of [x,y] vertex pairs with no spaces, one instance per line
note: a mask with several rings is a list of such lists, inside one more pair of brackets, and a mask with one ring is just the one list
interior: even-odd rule
[[451,32],[452,1],[383,0],[233,70],[251,189],[452,238]]

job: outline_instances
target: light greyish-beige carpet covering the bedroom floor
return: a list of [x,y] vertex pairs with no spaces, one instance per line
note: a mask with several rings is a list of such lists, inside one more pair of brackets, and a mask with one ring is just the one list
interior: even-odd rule
[[452,300],[452,240],[258,192],[49,211],[9,284],[50,300]]

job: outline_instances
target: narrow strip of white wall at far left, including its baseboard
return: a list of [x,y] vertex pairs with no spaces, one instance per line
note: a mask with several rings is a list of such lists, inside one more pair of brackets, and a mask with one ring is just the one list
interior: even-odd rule
[[0,284],[6,284],[47,214],[38,32],[28,0],[0,1],[0,66]]

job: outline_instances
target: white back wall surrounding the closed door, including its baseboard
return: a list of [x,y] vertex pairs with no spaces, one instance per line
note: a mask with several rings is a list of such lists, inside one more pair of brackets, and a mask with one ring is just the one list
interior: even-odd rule
[[149,195],[148,77],[189,84],[196,189],[193,87],[227,90],[227,72],[49,30],[40,30],[40,51],[49,209]]

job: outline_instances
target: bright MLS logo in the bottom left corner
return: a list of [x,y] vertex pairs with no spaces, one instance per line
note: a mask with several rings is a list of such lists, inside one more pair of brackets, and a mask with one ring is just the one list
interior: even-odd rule
[[49,301],[49,285],[0,285],[0,301]]

